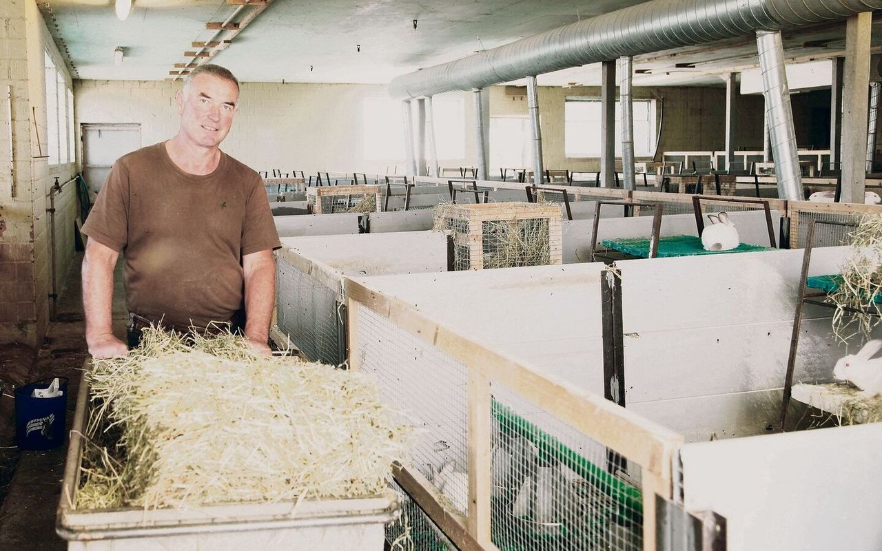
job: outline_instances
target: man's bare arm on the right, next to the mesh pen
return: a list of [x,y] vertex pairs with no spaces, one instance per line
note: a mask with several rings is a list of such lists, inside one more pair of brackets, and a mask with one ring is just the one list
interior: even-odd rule
[[242,257],[245,277],[245,337],[259,352],[270,354],[269,332],[275,306],[275,257],[259,250]]

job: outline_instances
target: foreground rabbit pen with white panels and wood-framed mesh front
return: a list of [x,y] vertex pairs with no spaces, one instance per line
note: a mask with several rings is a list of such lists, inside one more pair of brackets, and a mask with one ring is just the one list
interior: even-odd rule
[[[816,249],[811,275],[848,251]],[[594,263],[349,279],[351,367],[375,374],[419,428],[398,480],[455,543],[675,548],[694,529],[739,551],[875,549],[882,480],[865,473],[882,425],[776,427],[802,259],[769,250],[628,260],[615,274]],[[618,313],[604,291],[614,288]],[[807,310],[798,381],[831,380],[845,354],[832,313]],[[819,423],[795,403],[789,419]],[[467,484],[432,485],[451,463]],[[822,474],[830,465],[835,476]]]

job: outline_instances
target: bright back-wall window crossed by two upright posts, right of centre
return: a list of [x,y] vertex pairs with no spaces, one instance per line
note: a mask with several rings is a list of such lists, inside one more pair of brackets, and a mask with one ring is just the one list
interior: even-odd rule
[[[632,103],[634,156],[654,154],[655,101]],[[564,150],[567,157],[599,157],[601,154],[601,101],[569,98],[564,109]],[[622,109],[616,102],[616,155],[622,154]]]

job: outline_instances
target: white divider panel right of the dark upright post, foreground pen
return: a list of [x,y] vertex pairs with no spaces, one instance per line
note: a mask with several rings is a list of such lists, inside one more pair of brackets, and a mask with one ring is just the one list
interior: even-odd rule
[[[812,250],[839,273],[848,247]],[[620,261],[627,407],[684,434],[764,434],[781,406],[803,250]],[[833,309],[806,304],[796,382],[832,381]]]

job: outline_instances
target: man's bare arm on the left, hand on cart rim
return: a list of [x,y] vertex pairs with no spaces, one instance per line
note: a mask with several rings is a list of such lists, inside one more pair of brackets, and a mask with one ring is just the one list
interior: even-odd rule
[[113,334],[113,271],[119,253],[94,239],[86,242],[83,257],[83,311],[86,344],[95,358],[112,358],[129,352]]

